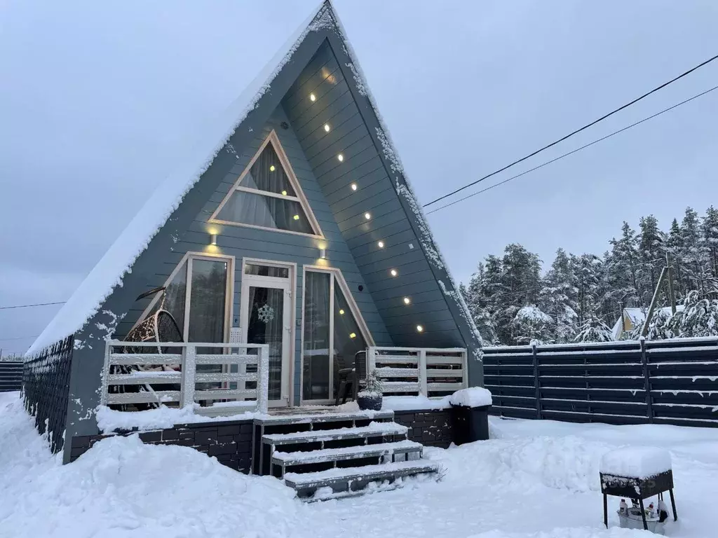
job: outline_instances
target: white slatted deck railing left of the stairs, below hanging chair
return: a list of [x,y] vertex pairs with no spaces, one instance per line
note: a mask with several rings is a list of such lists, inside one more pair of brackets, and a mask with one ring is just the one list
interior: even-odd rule
[[[148,352],[126,353],[128,348],[147,348]],[[130,372],[116,373],[117,367],[130,367]],[[153,367],[159,369],[149,370]],[[255,371],[248,371],[252,369]],[[269,345],[110,340],[102,379],[103,405],[163,403],[185,407],[199,403],[197,412],[202,415],[266,413]],[[248,389],[247,383],[256,386]],[[144,390],[121,392],[128,385],[140,385]],[[174,388],[154,390],[153,385]]]

